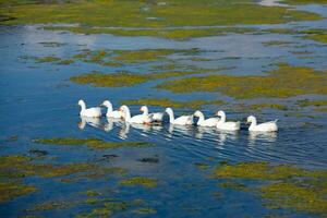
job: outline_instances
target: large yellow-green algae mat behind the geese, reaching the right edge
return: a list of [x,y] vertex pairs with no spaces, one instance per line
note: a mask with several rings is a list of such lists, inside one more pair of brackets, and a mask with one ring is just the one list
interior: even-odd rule
[[234,98],[288,98],[305,94],[327,94],[326,71],[279,64],[265,76],[206,75],[178,78],[157,88],[173,93],[220,92]]

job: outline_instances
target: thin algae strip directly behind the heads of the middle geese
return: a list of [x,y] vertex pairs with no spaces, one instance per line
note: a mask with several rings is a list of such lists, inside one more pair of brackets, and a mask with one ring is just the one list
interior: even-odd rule
[[222,100],[189,100],[178,101],[169,98],[141,98],[135,100],[122,100],[122,105],[146,105],[146,106],[158,106],[158,107],[172,107],[172,108],[192,108],[199,109],[205,105],[223,105]]

